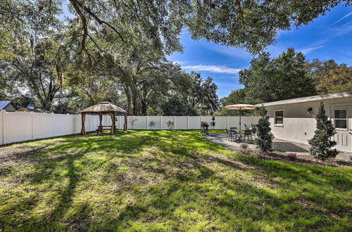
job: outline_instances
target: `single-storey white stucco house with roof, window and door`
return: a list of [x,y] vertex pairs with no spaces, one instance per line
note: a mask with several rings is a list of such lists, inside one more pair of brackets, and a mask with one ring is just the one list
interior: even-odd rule
[[263,103],[270,115],[272,134],[275,138],[308,143],[314,135],[320,102],[325,103],[327,115],[337,129],[337,149],[352,153],[352,91]]

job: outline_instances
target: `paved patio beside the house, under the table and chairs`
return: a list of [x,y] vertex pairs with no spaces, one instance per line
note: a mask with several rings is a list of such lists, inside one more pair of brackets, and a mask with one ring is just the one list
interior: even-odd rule
[[[204,137],[212,141],[213,143],[217,143],[220,146],[223,146],[224,148],[227,148],[230,150],[237,150],[241,148],[241,144],[243,144],[243,142],[227,140],[226,134],[209,134],[208,136],[204,136]],[[246,144],[248,145],[249,148],[256,149],[256,145],[254,143],[246,143]],[[304,144],[304,143],[286,141],[279,138],[274,138],[274,141],[272,143],[272,148],[273,150],[280,150],[287,153],[296,153],[297,155],[310,155],[309,154],[310,145]],[[351,157],[352,157],[352,153],[346,153],[342,151],[340,151],[339,155],[337,155],[338,160],[344,160],[347,162],[350,161]]]

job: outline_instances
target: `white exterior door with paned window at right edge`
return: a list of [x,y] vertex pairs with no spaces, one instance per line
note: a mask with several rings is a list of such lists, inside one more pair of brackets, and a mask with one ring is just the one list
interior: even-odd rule
[[337,141],[337,150],[352,152],[352,105],[332,106],[330,116],[337,134],[334,140]]

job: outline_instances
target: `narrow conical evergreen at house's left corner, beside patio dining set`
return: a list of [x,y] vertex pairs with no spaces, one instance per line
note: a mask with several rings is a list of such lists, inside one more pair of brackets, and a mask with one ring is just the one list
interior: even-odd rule
[[274,136],[271,134],[270,121],[268,116],[268,110],[264,106],[258,108],[260,113],[260,120],[257,126],[257,136],[256,145],[261,152],[272,150],[272,139]]

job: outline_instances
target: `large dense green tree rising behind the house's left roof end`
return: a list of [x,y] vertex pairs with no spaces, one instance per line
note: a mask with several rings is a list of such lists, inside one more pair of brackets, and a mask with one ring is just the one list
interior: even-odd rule
[[239,72],[239,82],[246,89],[246,102],[264,103],[315,94],[313,79],[307,75],[306,58],[301,52],[287,49],[277,58],[261,53],[251,60],[251,67]]

